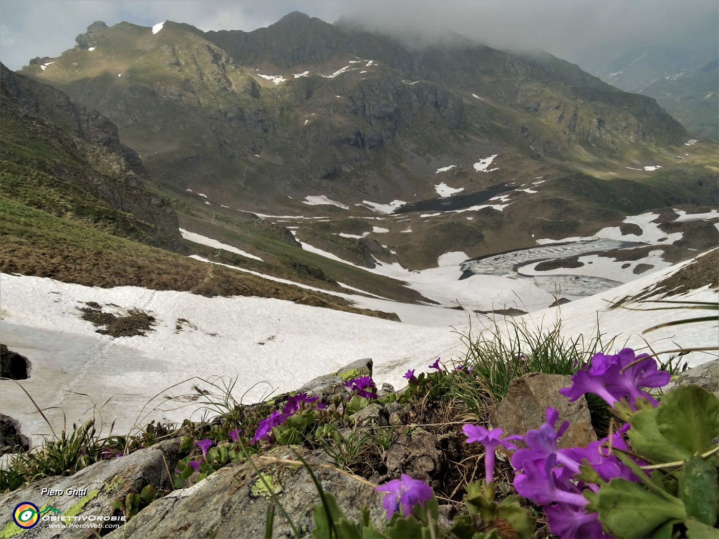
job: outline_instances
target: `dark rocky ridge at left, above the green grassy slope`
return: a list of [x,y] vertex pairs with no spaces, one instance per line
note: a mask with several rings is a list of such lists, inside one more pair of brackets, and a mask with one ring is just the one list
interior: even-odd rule
[[[137,152],[120,142],[117,127],[87,112],[64,93],[0,65],[5,162],[71,183],[144,221],[145,242],[178,249],[178,218],[165,198],[145,189]],[[24,145],[37,149],[31,154]]]

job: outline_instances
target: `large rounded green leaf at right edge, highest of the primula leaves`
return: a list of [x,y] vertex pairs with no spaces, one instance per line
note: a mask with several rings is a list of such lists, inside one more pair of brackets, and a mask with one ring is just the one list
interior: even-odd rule
[[698,385],[679,386],[659,403],[656,425],[659,433],[686,449],[690,457],[702,453],[719,436],[719,399]]

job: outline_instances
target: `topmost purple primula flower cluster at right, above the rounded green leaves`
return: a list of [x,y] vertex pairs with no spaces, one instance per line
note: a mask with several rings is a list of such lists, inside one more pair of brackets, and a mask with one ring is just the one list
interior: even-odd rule
[[658,370],[654,359],[647,354],[636,356],[631,348],[625,348],[613,356],[595,354],[589,371],[577,371],[572,377],[572,386],[559,393],[570,402],[585,393],[595,393],[610,406],[624,397],[633,408],[638,398],[646,398],[656,406],[654,397],[641,387],[663,387],[668,382],[669,373]]

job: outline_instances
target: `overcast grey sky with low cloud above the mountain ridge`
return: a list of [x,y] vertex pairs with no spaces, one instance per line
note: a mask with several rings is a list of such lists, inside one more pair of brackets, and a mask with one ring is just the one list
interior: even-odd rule
[[541,48],[589,70],[631,47],[719,46],[716,0],[0,0],[0,60],[60,55],[96,20],[251,31],[291,11],[431,40],[458,32],[498,48]]

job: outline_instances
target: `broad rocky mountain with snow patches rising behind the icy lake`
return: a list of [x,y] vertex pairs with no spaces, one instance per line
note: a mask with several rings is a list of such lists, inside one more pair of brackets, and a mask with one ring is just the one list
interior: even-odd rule
[[[664,262],[714,241],[710,223],[672,209],[704,215],[717,203],[715,145],[684,147],[684,128],[654,99],[546,53],[459,37],[408,50],[300,13],[254,32],[96,22],[77,42],[23,73],[108,116],[175,199],[180,225],[238,249],[248,212],[305,250],[370,269],[611,226],[631,236],[625,219],[647,211],[683,234]],[[395,294],[387,284],[375,292]]]

